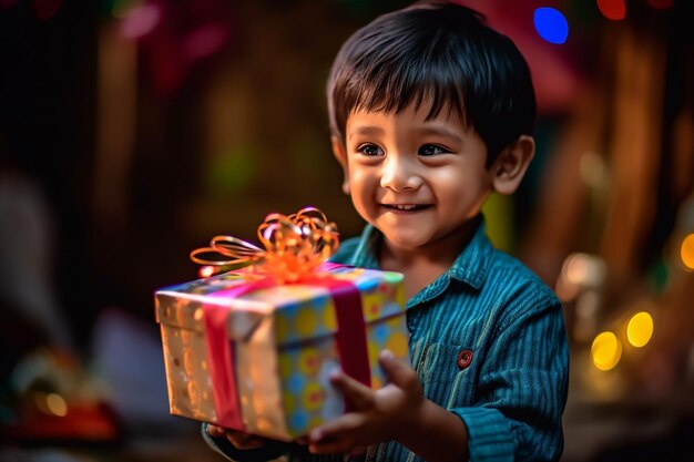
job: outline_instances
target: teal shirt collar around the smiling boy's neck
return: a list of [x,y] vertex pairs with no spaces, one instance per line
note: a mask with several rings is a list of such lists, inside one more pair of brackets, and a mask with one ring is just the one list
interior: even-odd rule
[[[456,279],[479,289],[487,277],[494,251],[482,215],[477,218],[477,228],[470,242],[460,251],[451,267],[442,276]],[[372,225],[367,225],[361,233],[357,248],[349,259],[349,265],[361,268],[380,269],[378,249],[382,234]]]

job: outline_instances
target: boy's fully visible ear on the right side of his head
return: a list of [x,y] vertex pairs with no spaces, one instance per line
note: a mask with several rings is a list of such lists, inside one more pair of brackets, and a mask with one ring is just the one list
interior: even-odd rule
[[534,154],[535,141],[528,135],[520,135],[504,147],[490,168],[493,189],[499,194],[513,194]]

